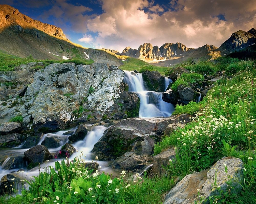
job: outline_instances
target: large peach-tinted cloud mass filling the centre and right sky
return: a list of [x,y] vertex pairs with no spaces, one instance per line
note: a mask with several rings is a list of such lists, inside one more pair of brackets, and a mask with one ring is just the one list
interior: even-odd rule
[[101,2],[103,14],[88,19],[87,29],[98,34],[95,45],[119,51],[143,43],[220,46],[231,33],[256,26],[256,4],[250,0],[175,0],[169,9],[147,0]]

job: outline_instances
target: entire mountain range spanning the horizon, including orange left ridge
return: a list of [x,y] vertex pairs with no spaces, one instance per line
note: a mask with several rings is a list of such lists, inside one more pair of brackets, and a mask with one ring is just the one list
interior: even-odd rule
[[194,60],[215,59],[256,44],[256,30],[232,33],[221,47],[204,45],[188,48],[181,43],[166,43],[161,47],[144,43],[138,49],[127,47],[122,53],[110,49],[87,49],[72,43],[56,26],[33,20],[9,5],[0,5],[0,50],[12,55],[38,59],[91,58],[96,62],[122,65],[125,55],[159,66],[170,66],[188,58]]

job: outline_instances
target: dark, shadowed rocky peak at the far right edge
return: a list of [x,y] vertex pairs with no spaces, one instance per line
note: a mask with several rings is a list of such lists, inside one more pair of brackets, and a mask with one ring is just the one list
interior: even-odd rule
[[228,38],[222,45],[219,47],[223,54],[228,54],[230,52],[242,50],[248,46],[256,44],[256,31],[252,28],[250,31],[237,31],[232,33],[231,37]]

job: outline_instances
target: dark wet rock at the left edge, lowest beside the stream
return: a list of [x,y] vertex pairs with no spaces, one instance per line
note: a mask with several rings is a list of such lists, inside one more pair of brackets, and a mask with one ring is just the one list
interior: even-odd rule
[[[13,192],[12,188],[14,186],[17,186],[17,184],[19,182],[20,182],[20,179],[17,176],[14,176],[12,174],[4,175],[0,181],[0,194],[1,195],[5,194],[5,193],[11,194],[11,192]],[[5,186],[6,186],[6,188],[5,188]]]

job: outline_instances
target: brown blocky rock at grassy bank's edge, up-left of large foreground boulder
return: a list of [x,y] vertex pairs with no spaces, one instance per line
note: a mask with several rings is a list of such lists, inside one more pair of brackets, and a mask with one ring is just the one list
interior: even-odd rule
[[157,154],[153,157],[153,170],[158,175],[163,175],[166,171],[162,168],[167,167],[170,164],[169,160],[174,160],[176,151],[174,148],[170,148],[160,154]]

